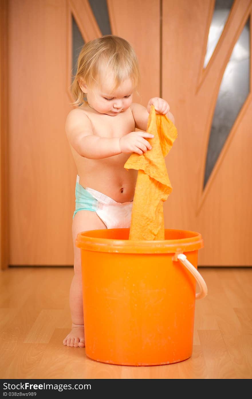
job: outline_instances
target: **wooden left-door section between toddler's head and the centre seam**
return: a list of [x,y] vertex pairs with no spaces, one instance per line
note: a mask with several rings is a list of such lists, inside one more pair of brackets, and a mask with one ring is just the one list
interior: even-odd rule
[[107,6],[112,34],[128,40],[139,61],[141,96],[133,101],[147,107],[160,95],[160,2],[107,0]]

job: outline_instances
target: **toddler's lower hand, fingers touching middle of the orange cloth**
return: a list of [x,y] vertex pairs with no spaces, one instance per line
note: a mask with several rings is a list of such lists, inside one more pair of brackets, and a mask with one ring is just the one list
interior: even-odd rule
[[153,138],[154,135],[141,131],[125,134],[125,136],[119,139],[121,152],[124,154],[136,152],[137,154],[142,155],[144,152],[147,152],[147,149],[151,150],[150,143],[145,140],[144,137]]

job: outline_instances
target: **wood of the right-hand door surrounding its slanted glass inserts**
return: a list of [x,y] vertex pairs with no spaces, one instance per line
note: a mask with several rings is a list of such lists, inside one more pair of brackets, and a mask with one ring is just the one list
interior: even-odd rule
[[205,248],[199,251],[199,265],[250,266],[251,93],[204,190],[203,180],[219,87],[252,2],[234,2],[203,70],[213,5],[211,0],[163,2],[162,93],[170,101],[178,128],[178,139],[167,158],[173,192],[164,205],[165,223],[166,227],[202,234]]

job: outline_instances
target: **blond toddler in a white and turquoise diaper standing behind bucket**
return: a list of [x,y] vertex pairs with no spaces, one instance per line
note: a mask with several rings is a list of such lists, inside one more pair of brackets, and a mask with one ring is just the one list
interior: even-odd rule
[[[86,43],[78,57],[72,94],[78,108],[66,118],[66,135],[76,163],[76,208],[72,222],[74,277],[70,286],[72,330],[66,346],[83,348],[84,320],[80,249],[81,231],[130,227],[137,170],[123,166],[132,152],[151,150],[146,132],[150,106],[167,114],[168,103],[151,98],[147,108],[132,103],[139,86],[139,67],[131,45],[118,36],[105,35]],[[135,131],[135,128],[140,131]]]

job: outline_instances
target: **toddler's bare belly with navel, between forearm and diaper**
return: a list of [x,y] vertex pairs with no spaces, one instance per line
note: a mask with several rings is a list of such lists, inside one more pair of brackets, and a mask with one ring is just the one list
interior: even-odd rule
[[88,168],[79,170],[80,184],[84,188],[89,187],[99,191],[117,202],[133,201],[138,171],[134,169],[127,171],[123,168],[124,163],[121,167],[103,164],[101,168],[98,164],[96,170],[92,168],[89,173]]

